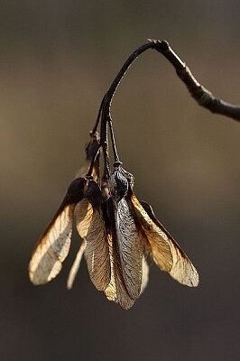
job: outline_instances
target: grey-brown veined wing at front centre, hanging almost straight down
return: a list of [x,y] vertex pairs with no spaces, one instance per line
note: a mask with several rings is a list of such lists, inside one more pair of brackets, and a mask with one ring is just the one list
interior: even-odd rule
[[125,198],[115,208],[115,230],[125,287],[136,300],[141,291],[143,245]]

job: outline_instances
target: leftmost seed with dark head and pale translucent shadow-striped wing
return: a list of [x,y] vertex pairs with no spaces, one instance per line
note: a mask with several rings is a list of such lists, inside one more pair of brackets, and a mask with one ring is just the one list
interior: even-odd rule
[[59,210],[33,251],[29,264],[32,283],[44,284],[60,273],[61,264],[69,254],[74,208],[83,197],[83,189],[83,179],[71,182]]

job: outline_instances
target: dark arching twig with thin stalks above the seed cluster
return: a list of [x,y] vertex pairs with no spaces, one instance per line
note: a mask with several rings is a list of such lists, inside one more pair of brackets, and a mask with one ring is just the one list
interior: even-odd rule
[[116,151],[115,137],[113,132],[112,119],[110,116],[110,107],[112,104],[112,99],[115,95],[116,88],[119,86],[121,80],[125,76],[125,72],[132,65],[134,60],[138,58],[144,51],[148,49],[154,49],[162,53],[162,55],[171,62],[171,65],[177,72],[179,78],[183,81],[186,87],[189,89],[191,96],[198,102],[199,106],[204,106],[213,113],[220,114],[223,116],[229,116],[237,121],[240,121],[240,106],[235,106],[229,103],[226,103],[224,100],[221,100],[217,97],[214,97],[213,94],[207,89],[204,88],[198,80],[193,77],[190,72],[190,69],[187,67],[184,61],[180,60],[180,57],[172,51],[170,45],[166,41],[159,40],[149,40],[144,43],[142,46],[137,48],[125,61],[122,68],[119,70],[116,75],[112,85],[108,88],[105,97],[102,100],[101,106],[99,108],[97,123],[93,128],[93,133],[97,130],[97,125],[101,117],[101,132],[100,132],[100,145],[103,148],[104,162],[105,162],[105,174],[109,175],[110,165],[109,165],[109,156],[108,156],[108,144],[107,144],[107,124],[109,125],[111,132],[111,140],[113,145],[113,152],[115,156],[115,163],[121,163]]

